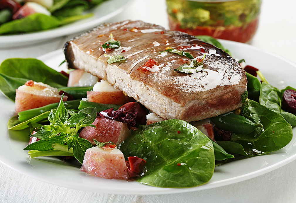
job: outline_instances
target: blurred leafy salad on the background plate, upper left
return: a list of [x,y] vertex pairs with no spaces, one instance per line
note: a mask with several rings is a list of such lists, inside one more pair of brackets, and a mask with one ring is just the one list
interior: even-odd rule
[[[85,11],[92,9],[106,0],[48,1],[51,4],[41,6],[30,1],[27,3],[18,3],[14,0],[1,0],[0,35],[49,30],[77,20],[89,18],[93,16],[93,13],[85,13]],[[39,7],[41,7],[41,11],[38,10]],[[33,11],[28,14],[26,12],[27,10]]]

